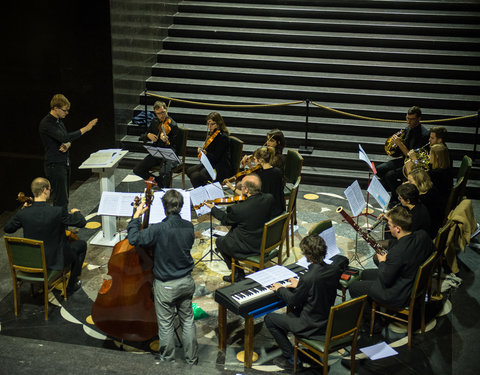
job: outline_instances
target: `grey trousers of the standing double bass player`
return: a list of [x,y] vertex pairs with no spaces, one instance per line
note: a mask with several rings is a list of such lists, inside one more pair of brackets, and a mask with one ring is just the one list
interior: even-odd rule
[[173,321],[178,314],[182,327],[182,342],[185,362],[198,361],[198,344],[193,320],[192,297],[195,282],[190,275],[176,280],[155,280],[155,311],[158,322],[159,355],[162,361],[175,361],[175,339]]

